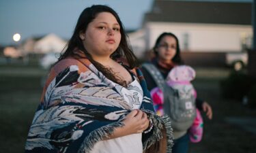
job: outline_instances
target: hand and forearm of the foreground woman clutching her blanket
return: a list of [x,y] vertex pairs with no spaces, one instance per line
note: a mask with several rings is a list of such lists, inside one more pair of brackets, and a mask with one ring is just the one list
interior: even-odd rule
[[134,133],[142,133],[150,125],[150,120],[147,118],[147,114],[139,109],[132,110],[123,122],[124,126],[116,128],[113,134],[109,135],[106,139],[123,137]]

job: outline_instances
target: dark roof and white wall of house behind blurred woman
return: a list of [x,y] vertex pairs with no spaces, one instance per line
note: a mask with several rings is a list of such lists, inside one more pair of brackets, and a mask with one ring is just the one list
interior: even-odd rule
[[182,51],[240,52],[251,47],[251,7],[242,2],[155,0],[138,32],[143,31],[141,49],[150,50],[160,33],[171,32]]

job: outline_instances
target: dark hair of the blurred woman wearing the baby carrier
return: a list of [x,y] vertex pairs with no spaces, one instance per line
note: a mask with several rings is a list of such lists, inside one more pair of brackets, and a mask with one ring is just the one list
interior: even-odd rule
[[176,54],[175,56],[173,56],[173,58],[171,59],[171,61],[173,61],[173,63],[175,64],[182,64],[182,58],[180,56],[180,45],[179,45],[179,40],[177,39],[176,35],[174,35],[173,33],[162,33],[161,35],[159,35],[159,37],[156,39],[156,44],[154,45],[154,54],[156,54],[156,57],[158,57],[158,52],[156,51],[156,49],[158,48],[160,41],[162,40],[163,37],[165,36],[170,36],[173,37],[176,40]]

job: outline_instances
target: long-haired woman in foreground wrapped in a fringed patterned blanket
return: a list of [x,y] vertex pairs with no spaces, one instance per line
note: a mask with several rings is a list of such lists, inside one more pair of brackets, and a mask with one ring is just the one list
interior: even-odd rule
[[171,152],[169,117],[157,116],[117,13],[85,8],[52,67],[26,152]]

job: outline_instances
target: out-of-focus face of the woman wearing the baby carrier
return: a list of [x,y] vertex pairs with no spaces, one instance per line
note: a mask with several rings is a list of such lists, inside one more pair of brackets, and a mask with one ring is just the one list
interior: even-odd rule
[[158,52],[158,58],[160,61],[167,63],[171,62],[177,52],[176,39],[169,35],[162,37],[156,48],[156,52]]

